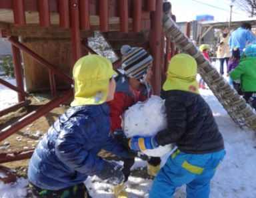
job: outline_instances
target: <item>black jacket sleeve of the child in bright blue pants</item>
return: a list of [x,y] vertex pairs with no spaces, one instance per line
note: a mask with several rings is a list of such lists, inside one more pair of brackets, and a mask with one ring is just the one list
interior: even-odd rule
[[157,133],[157,144],[165,146],[177,142],[185,133],[187,126],[187,111],[183,100],[179,96],[165,100],[167,112],[167,128]]

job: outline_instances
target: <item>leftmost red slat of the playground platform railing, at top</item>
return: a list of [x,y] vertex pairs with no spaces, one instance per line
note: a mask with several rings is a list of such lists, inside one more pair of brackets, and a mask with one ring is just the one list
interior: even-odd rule
[[12,0],[13,3],[13,18],[15,25],[25,25],[25,9],[23,0]]

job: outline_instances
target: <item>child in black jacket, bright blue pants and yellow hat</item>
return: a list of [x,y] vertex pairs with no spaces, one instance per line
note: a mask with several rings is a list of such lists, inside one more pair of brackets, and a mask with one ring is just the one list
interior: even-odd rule
[[187,184],[187,197],[209,197],[210,181],[225,150],[211,108],[199,94],[196,76],[197,62],[192,56],[173,56],[163,84],[167,128],[155,136],[128,140],[134,150],[177,145],[155,177],[149,198],[172,197],[183,184]]

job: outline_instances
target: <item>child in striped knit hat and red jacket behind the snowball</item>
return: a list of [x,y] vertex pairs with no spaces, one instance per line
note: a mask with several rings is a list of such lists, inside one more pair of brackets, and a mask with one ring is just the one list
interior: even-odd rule
[[[152,75],[151,65],[153,62],[152,56],[141,47],[123,45],[121,54],[123,74],[115,78],[117,86],[114,99],[108,102],[111,108],[111,135],[120,143],[122,143],[123,137],[121,115],[130,106],[139,101],[147,100],[152,94],[149,80]],[[134,157],[122,159],[124,161],[123,174],[125,175],[125,181],[128,180],[131,173],[130,169],[137,155],[138,153],[134,153]],[[141,153],[139,153],[139,157],[148,161],[147,173],[153,176],[157,175],[160,169],[160,157],[148,157],[147,155],[141,155]],[[125,191],[125,184],[115,187],[114,194],[115,197],[128,197]]]

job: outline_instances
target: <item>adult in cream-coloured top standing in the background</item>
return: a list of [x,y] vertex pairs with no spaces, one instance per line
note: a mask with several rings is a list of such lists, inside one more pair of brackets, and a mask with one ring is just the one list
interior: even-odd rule
[[217,50],[217,58],[219,58],[220,66],[219,66],[219,73],[221,75],[224,74],[223,65],[224,62],[229,61],[230,57],[230,48],[227,43],[229,42],[229,29],[227,27],[223,27],[222,34],[219,37],[219,47]]

